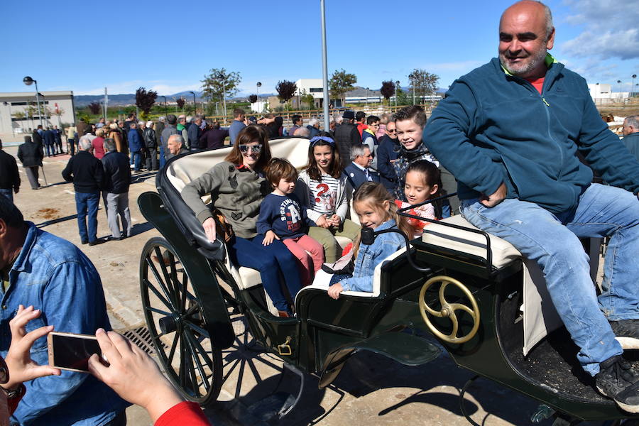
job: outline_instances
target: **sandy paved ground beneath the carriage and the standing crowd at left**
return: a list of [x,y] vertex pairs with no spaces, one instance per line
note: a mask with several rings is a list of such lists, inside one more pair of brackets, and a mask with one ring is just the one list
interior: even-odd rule
[[[17,148],[6,147],[5,151],[15,155]],[[26,220],[80,246],[73,187],[60,175],[67,160],[67,155],[45,159],[47,182],[42,176],[40,182],[48,185],[41,190],[31,190],[21,171],[23,184],[15,202]],[[80,246],[102,276],[111,323],[121,331],[144,325],[138,262],[143,244],[157,236],[158,231],[141,216],[135,200],[142,192],[154,190],[151,178],[153,175],[148,173],[134,175],[130,192],[134,225],[131,238]],[[102,208],[98,219],[98,236],[108,236]],[[447,356],[422,367],[408,368],[366,354],[354,356],[334,385],[324,391],[317,389],[317,379],[306,376],[305,393],[293,412],[280,421],[268,420],[269,410],[285,398],[286,392],[297,393],[300,380],[293,373],[281,376],[282,363],[274,356],[251,351],[244,344],[239,346],[240,350],[227,359],[241,360],[233,374],[244,380],[241,387],[236,387],[234,380],[227,381],[219,398],[222,402],[207,407],[207,415],[215,425],[467,424],[459,410],[458,396],[472,373],[454,366]],[[466,393],[466,410],[481,425],[527,425],[536,407],[535,401],[485,379],[477,381]],[[140,408],[130,408],[127,414],[130,425],[151,424]]]

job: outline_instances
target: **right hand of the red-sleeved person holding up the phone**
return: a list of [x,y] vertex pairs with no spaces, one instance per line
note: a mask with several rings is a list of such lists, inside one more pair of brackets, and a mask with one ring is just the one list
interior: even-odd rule
[[89,358],[89,371],[121,398],[145,408],[153,422],[184,399],[160,372],[155,361],[116,332],[95,332],[108,366],[97,354]]

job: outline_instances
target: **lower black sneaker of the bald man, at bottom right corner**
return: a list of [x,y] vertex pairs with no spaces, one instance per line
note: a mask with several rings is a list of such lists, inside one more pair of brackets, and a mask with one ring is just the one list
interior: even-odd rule
[[601,395],[611,398],[628,413],[639,413],[639,374],[632,366],[616,355],[600,363],[599,368],[595,383]]

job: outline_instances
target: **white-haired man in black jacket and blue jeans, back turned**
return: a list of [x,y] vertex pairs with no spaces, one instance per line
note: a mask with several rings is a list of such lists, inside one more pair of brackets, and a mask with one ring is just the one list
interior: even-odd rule
[[77,154],[71,157],[65,170],[62,170],[62,178],[67,182],[73,182],[80,242],[94,246],[104,242],[97,239],[97,210],[100,204],[100,190],[104,185],[104,169],[100,160],[90,152],[91,138],[82,136],[77,149]]

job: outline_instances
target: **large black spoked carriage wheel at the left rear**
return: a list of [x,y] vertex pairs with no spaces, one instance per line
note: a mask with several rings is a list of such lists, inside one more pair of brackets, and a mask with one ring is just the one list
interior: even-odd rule
[[163,238],[150,239],[142,250],[140,288],[146,324],[170,381],[190,401],[215,400],[222,351],[211,346],[197,289]]

